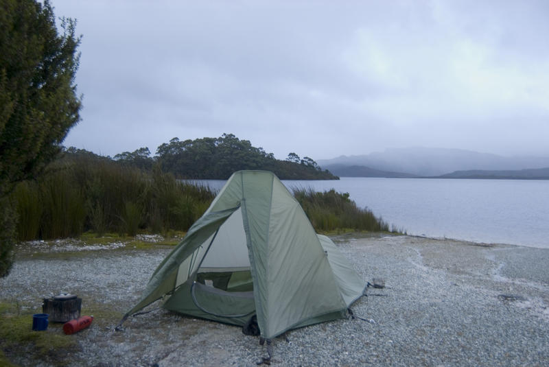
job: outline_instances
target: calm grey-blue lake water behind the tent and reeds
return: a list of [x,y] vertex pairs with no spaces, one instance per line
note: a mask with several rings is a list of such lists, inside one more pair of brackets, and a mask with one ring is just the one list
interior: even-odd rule
[[[223,180],[204,180],[220,189]],[[409,235],[549,248],[549,180],[349,178],[285,180],[348,192],[351,200]]]

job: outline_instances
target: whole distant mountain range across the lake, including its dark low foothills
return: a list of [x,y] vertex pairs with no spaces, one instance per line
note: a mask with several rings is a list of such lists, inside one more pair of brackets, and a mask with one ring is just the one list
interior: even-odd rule
[[458,149],[399,148],[317,163],[342,177],[549,179],[549,157],[506,157]]

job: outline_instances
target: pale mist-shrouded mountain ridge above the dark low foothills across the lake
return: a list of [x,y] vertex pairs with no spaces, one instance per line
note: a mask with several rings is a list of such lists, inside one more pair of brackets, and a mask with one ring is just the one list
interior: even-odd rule
[[338,170],[342,169],[342,166],[364,166],[373,170],[414,176],[442,176],[454,171],[545,168],[549,167],[549,157],[508,157],[469,150],[410,147],[387,149],[384,152],[360,156],[339,156],[318,160],[317,163],[323,169],[330,170],[334,165],[337,165]]

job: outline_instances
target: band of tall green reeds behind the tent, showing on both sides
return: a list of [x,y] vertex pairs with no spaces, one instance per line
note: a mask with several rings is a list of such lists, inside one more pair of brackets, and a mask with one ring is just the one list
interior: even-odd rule
[[[359,209],[348,193],[293,191],[316,230],[390,231],[371,211]],[[176,180],[158,166],[142,171],[108,158],[73,154],[57,161],[38,182],[21,182],[10,202],[20,218],[17,238],[26,241],[79,236],[88,230],[97,235],[186,231],[214,197],[209,187]],[[7,210],[5,226],[14,217]],[[1,251],[9,242],[2,241]]]

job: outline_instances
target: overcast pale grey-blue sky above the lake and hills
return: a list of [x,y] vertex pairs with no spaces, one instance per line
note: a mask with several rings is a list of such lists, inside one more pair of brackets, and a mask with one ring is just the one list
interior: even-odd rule
[[65,146],[235,134],[284,159],[549,156],[549,1],[51,0],[83,35]]

